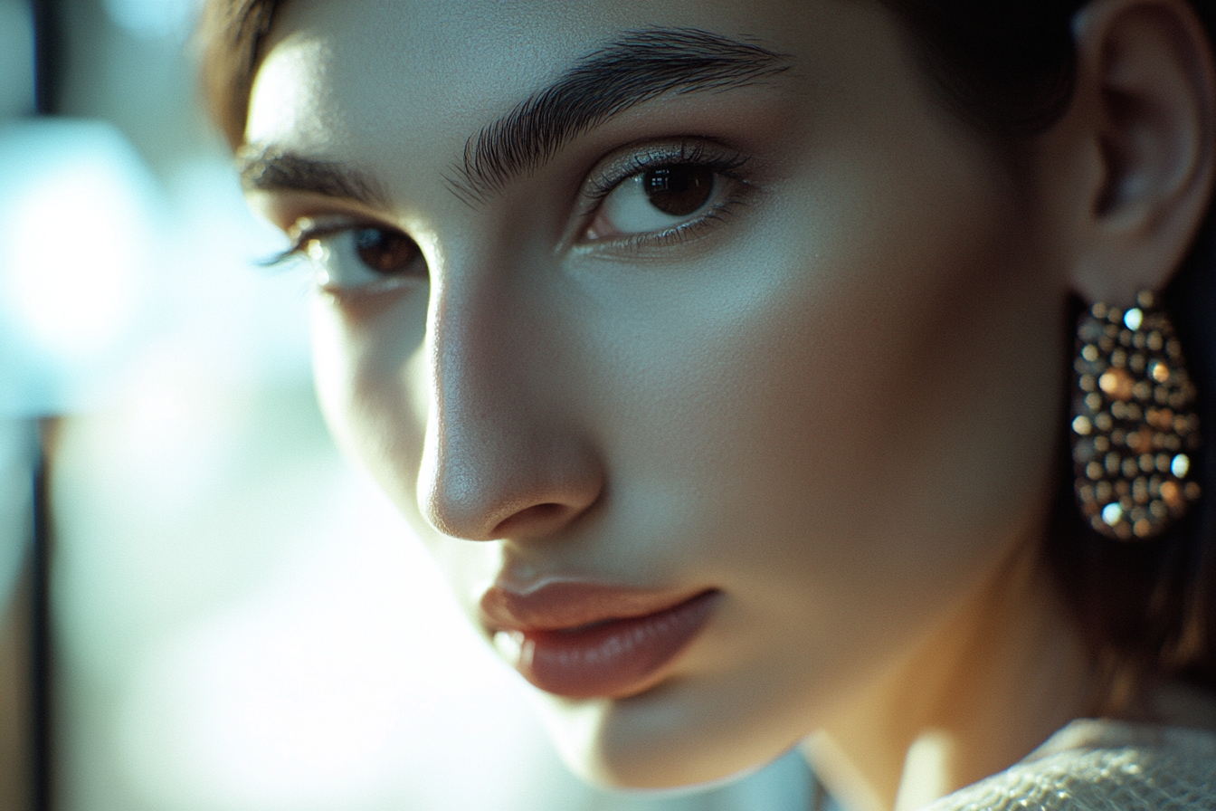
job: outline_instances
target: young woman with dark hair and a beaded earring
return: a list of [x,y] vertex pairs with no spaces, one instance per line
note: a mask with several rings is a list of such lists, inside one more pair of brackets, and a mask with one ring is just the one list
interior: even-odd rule
[[1211,16],[225,0],[206,79],[576,771],[1216,807]]

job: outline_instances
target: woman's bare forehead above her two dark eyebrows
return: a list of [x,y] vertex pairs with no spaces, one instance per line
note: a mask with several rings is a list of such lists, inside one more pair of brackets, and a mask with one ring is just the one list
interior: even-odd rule
[[[291,0],[277,13],[247,137],[300,146],[375,140],[424,122],[461,146],[477,129],[624,32],[696,28],[812,56],[806,32],[841,0]],[[868,5],[868,4],[867,4]],[[831,15],[829,15],[831,16]]]

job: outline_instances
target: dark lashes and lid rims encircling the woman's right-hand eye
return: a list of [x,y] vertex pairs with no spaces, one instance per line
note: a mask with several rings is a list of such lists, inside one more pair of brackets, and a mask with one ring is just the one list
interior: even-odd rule
[[[687,141],[680,143],[679,152],[663,148],[634,152],[625,163],[613,167],[602,176],[587,181],[587,187],[582,192],[585,203],[579,219],[581,223],[590,223],[596,212],[599,210],[604,198],[623,182],[640,173],[668,167],[703,167],[711,170],[715,175],[726,178],[734,185],[734,190],[719,201],[710,212],[664,231],[632,233],[617,240],[603,241],[604,247],[610,246],[613,248],[629,249],[662,247],[685,242],[698,236],[703,229],[713,227],[714,221],[722,221],[725,216],[733,214],[738,207],[747,204],[747,195],[742,192],[750,184],[743,178],[743,173],[739,169],[749,159],[741,152],[732,152],[730,154],[716,153],[703,143],[689,143]],[[590,247],[590,243],[582,244]]]

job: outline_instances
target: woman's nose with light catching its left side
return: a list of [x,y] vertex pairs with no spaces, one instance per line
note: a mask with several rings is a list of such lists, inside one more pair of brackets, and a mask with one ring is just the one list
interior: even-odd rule
[[546,537],[601,496],[602,466],[572,407],[574,370],[553,351],[567,321],[551,315],[542,298],[492,280],[433,281],[417,497],[445,535]]

